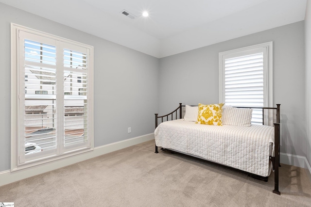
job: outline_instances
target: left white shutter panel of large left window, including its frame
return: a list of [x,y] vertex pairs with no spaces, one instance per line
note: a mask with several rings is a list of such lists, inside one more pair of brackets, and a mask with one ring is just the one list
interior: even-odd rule
[[[50,38],[19,32],[19,164],[56,154],[55,43]],[[32,143],[35,149],[25,151],[25,143]]]

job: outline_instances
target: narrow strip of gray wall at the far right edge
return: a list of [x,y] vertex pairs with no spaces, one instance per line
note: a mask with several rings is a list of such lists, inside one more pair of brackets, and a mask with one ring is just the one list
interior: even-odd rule
[[306,57],[306,128],[307,128],[307,156],[311,166],[311,1],[307,1],[305,16],[305,57]]

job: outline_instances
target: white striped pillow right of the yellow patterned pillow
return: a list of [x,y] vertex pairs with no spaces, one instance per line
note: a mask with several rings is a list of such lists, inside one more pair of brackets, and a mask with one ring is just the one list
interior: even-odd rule
[[253,109],[225,106],[223,108],[223,125],[251,126]]

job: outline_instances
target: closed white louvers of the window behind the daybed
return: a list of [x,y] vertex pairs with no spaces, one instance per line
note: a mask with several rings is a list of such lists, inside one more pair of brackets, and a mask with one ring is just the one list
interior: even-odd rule
[[[225,59],[225,103],[263,107],[263,53]],[[253,124],[262,124],[262,111],[254,109]]]

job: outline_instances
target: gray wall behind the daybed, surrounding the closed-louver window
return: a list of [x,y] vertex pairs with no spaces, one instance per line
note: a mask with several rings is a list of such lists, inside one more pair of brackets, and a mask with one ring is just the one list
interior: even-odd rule
[[[281,152],[307,157],[304,21],[160,59],[159,111],[219,102],[218,53],[273,41],[274,104],[281,104]],[[309,154],[308,154],[309,156]]]

